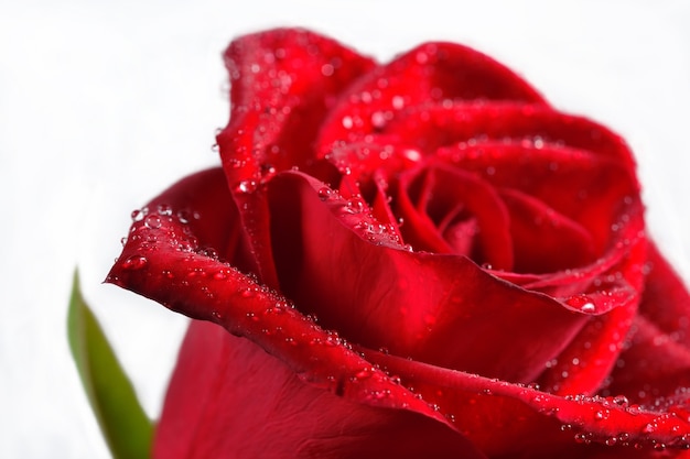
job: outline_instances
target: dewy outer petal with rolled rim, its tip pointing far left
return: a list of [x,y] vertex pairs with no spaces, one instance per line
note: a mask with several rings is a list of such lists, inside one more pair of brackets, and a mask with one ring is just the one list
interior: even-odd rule
[[[324,330],[287,298],[220,261],[215,251],[209,253],[208,244],[223,240],[200,239],[191,229],[213,237],[217,233],[205,232],[207,228],[236,223],[231,212],[206,212],[208,196],[198,193],[227,197],[220,177],[219,170],[195,174],[149,204],[153,208],[164,203],[165,212],[154,220],[144,218],[132,223],[122,254],[106,282],[249,338],[313,386],[354,403],[405,408],[448,424],[425,402],[352,351],[337,332]],[[212,204],[214,209],[226,207],[222,200]],[[229,197],[227,204],[233,205]],[[193,223],[180,217],[183,210],[195,216]],[[241,250],[236,253],[241,254]],[[234,255],[228,253],[228,259]]]

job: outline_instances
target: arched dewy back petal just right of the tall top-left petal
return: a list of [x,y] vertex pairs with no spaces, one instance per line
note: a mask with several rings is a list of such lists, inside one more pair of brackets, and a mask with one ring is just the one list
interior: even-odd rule
[[324,121],[317,151],[325,156],[342,142],[360,142],[408,107],[477,99],[546,105],[524,79],[475,50],[422,44],[351,86]]

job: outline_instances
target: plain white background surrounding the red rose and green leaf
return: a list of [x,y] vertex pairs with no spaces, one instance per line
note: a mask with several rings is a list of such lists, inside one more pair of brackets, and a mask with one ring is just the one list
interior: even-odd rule
[[130,211],[217,163],[220,53],[246,32],[305,25],[380,59],[429,40],[493,55],[628,139],[651,232],[690,280],[689,4],[0,0],[0,457],[108,457],[67,348],[76,265],[160,412],[185,320],[100,282]]

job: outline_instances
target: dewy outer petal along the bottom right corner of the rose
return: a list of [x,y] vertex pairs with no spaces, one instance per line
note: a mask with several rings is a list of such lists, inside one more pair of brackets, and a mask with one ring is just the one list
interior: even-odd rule
[[488,457],[589,458],[596,451],[580,450],[573,442],[611,445],[611,457],[628,457],[629,447],[690,446],[690,423],[680,408],[644,409],[625,397],[559,396],[536,386],[360,350],[438,405]]

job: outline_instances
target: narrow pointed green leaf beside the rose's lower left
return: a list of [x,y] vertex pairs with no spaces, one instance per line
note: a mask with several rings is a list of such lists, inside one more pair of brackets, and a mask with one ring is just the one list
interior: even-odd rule
[[67,315],[67,335],[82,383],[112,457],[149,458],[153,424],[139,404],[134,387],[117,361],[94,313],[84,302],[76,271]]

